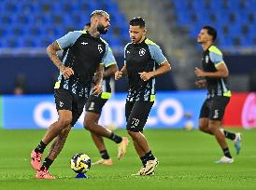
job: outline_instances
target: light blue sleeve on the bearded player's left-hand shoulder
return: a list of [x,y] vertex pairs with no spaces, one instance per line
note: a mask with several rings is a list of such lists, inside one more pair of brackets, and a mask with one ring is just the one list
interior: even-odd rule
[[65,34],[63,37],[57,39],[56,42],[59,44],[59,47],[61,49],[64,49],[66,47],[72,47],[81,34],[82,33],[78,31],[70,32],[68,34]]

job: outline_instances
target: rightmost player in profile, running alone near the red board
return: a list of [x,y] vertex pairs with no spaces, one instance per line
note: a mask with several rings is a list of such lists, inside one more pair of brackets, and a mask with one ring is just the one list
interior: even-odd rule
[[198,77],[205,77],[205,80],[196,81],[198,87],[207,88],[206,101],[203,103],[199,129],[208,134],[214,135],[223,151],[224,156],[216,163],[229,164],[234,162],[231,156],[225,137],[235,142],[236,154],[240,151],[241,134],[231,133],[220,129],[225,108],[230,101],[231,91],[227,87],[228,68],[222,58],[220,49],[213,46],[217,37],[217,31],[211,26],[204,26],[197,36],[197,42],[203,48],[203,69],[195,68],[194,74]]

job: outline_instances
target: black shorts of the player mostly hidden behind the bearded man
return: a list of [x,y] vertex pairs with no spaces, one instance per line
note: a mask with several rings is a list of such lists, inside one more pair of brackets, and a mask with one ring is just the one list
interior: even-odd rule
[[97,96],[90,95],[88,101],[86,102],[85,110],[86,112],[93,112],[95,114],[101,115],[102,108],[107,102],[107,99],[102,99]]

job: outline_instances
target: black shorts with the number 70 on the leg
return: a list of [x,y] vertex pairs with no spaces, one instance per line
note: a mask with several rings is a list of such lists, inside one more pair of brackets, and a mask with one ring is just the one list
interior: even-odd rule
[[143,132],[148,120],[149,112],[154,102],[125,103],[126,129],[134,132]]

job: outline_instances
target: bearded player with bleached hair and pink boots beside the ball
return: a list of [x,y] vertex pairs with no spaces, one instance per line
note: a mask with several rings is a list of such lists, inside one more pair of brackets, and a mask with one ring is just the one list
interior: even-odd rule
[[[50,60],[59,68],[61,74],[54,87],[58,121],[50,125],[43,139],[31,153],[31,165],[37,170],[37,179],[54,179],[49,168],[64,147],[64,142],[72,126],[75,125],[89,97],[94,76],[93,94],[102,91],[103,63],[109,59],[108,45],[100,38],[109,27],[109,15],[103,10],[91,14],[89,31],[75,31],[56,40],[47,48]],[[56,52],[64,49],[62,61]],[[50,153],[42,164],[46,146],[54,139]],[[41,165],[42,164],[42,165]]]

